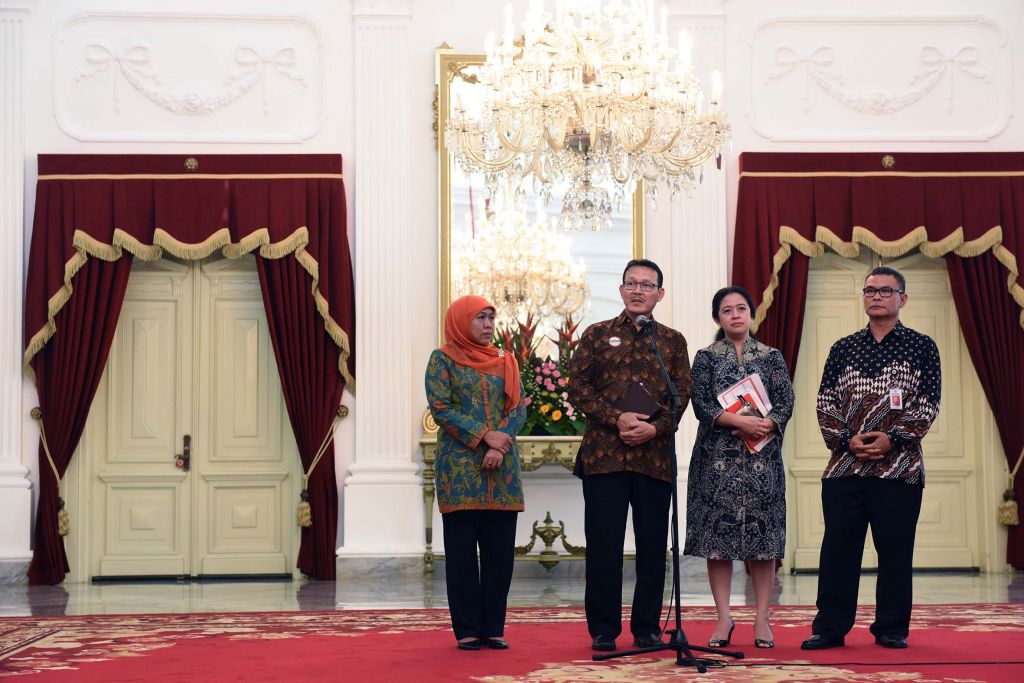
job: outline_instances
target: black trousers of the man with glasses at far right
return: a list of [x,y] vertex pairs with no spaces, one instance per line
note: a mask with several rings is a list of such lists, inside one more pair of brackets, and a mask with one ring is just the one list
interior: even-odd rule
[[871,633],[906,638],[913,605],[913,538],[923,493],[923,486],[897,479],[849,476],[821,480],[825,535],[813,633],[840,638],[853,628],[864,539],[870,525],[879,555]]

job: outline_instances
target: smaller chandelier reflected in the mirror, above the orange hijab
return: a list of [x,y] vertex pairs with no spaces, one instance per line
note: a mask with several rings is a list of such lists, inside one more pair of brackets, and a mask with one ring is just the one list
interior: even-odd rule
[[590,298],[586,267],[582,260],[573,262],[571,246],[543,211],[530,221],[510,202],[480,218],[473,237],[457,245],[455,295],[482,296],[498,308],[502,323],[532,313],[557,327]]

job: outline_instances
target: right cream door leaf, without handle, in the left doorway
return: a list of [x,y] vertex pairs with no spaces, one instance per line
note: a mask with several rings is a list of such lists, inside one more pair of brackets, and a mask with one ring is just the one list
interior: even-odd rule
[[298,463],[252,258],[201,270],[200,574],[291,571]]

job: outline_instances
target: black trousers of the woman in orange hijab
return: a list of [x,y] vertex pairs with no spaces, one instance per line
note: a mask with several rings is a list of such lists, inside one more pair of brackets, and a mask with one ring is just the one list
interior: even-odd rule
[[518,514],[507,510],[460,510],[441,515],[444,581],[452,630],[458,639],[498,638],[505,634]]

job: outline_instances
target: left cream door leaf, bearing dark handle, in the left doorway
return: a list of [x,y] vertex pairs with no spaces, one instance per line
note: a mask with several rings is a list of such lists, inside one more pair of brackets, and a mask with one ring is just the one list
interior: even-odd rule
[[[191,561],[191,492],[174,466],[191,416],[182,410],[191,377],[193,278],[160,261],[132,269],[106,366],[108,390],[93,404],[108,447],[93,458],[90,517],[93,575],[181,575]],[[98,413],[97,413],[97,409]]]

